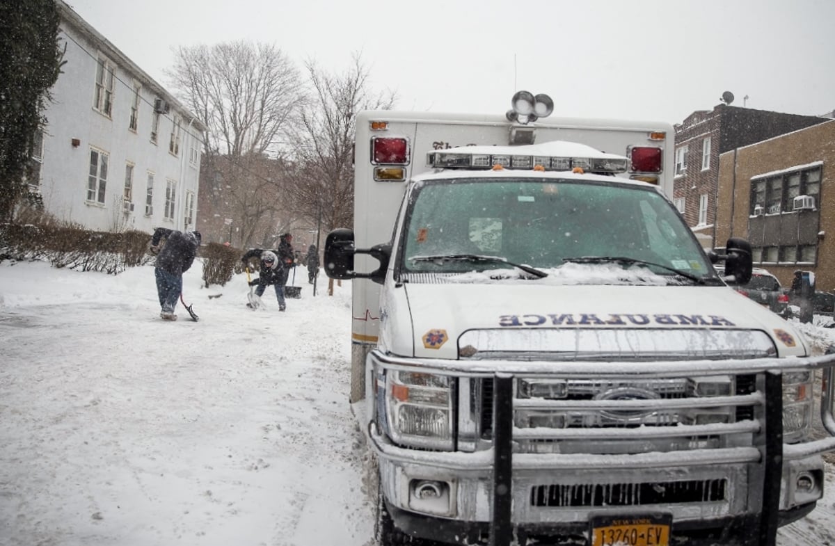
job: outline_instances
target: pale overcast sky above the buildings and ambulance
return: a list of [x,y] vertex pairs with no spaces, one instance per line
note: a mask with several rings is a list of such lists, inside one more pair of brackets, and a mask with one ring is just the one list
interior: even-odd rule
[[835,109],[832,0],[68,3],[164,85],[174,48],[247,39],[300,68],[342,71],[361,53],[398,109],[501,114],[518,89],[572,117],[678,123],[726,90],[735,106]]

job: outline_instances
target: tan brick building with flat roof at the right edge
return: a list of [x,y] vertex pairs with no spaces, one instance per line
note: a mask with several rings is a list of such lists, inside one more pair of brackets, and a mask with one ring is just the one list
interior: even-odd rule
[[718,162],[716,243],[749,240],[755,266],[835,290],[835,120],[741,146]]

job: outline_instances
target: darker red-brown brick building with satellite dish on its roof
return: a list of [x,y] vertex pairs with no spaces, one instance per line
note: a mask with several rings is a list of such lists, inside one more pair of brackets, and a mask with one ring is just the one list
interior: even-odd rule
[[825,121],[817,116],[719,104],[711,111],[696,111],[676,124],[673,199],[703,246],[711,248],[716,235],[719,155]]

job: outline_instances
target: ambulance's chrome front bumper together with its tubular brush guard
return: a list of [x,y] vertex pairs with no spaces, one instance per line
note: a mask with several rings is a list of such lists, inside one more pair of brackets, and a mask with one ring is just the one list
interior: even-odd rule
[[[379,359],[379,353],[373,358]],[[384,360],[386,366],[394,367],[408,366],[409,362]],[[757,441],[746,446],[639,454],[515,452],[519,440],[516,436],[524,437],[530,429],[520,430],[511,425],[504,439],[497,428],[488,449],[417,452],[395,445],[371,422],[368,436],[377,452],[382,493],[398,528],[450,543],[473,543],[485,533],[496,533],[497,529],[503,529],[505,535],[514,533],[519,543],[524,542],[519,538],[539,535],[583,543],[588,537],[590,518],[594,516],[647,512],[670,514],[674,536],[686,536],[694,544],[702,539],[706,543],[773,543],[778,524],[802,517],[822,496],[819,455],[835,448],[833,437],[801,444],[780,441],[782,397],[767,396],[767,392],[781,391],[779,369],[827,367],[833,357],[791,359],[791,367],[787,366],[787,360],[731,361],[728,367],[721,368],[722,372],[741,369],[767,377],[760,397],[762,431],[754,435]],[[602,370],[593,369],[603,374],[615,373],[616,363],[601,364]],[[684,372],[681,362],[661,364],[668,367],[661,371],[656,367],[656,375]],[[442,367],[447,367],[445,372],[472,375],[485,372],[488,366],[479,362],[480,369],[473,370],[472,366],[446,362]],[[699,373],[699,366],[692,362],[684,366],[688,374]],[[450,370],[450,367],[460,369]],[[515,369],[494,372],[497,382],[512,382],[514,375],[543,372],[535,363],[513,362],[509,367]],[[716,361],[705,367],[704,373],[716,373],[718,369]],[[427,367],[420,369],[426,371]],[[588,363],[584,363],[586,375],[588,369]],[[565,362],[560,363],[559,372],[574,373]],[[576,373],[581,373],[579,367]],[[506,377],[498,379],[503,376]],[[826,384],[831,385],[829,372]],[[510,390],[508,387],[507,391]],[[497,408],[499,398],[494,400]],[[766,402],[775,398],[780,403]],[[827,409],[832,405],[830,387],[825,388],[823,398],[822,421],[833,433],[835,427]],[[513,395],[505,402],[509,402],[510,408],[506,411],[513,412]],[[373,411],[372,407],[369,409]],[[513,417],[508,415],[512,413],[502,417],[496,409],[493,412],[496,426],[500,422],[513,423]],[[801,476],[816,480],[812,491],[797,490]],[[415,484],[426,482],[445,484],[448,493],[433,503],[426,503],[415,494]],[[497,493],[500,488],[509,492],[504,500]],[[686,497],[684,502],[680,498],[682,494]]]

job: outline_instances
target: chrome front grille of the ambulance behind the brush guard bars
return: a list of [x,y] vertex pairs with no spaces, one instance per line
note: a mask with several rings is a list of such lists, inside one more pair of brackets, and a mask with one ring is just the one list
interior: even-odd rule
[[[493,435],[493,379],[473,378],[479,436]],[[632,454],[755,443],[757,376],[515,377],[514,452]],[[760,412],[762,415],[762,412]]]

